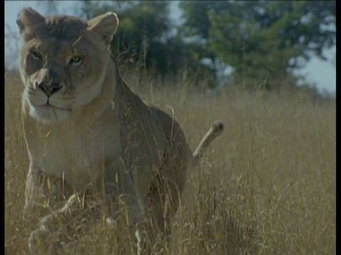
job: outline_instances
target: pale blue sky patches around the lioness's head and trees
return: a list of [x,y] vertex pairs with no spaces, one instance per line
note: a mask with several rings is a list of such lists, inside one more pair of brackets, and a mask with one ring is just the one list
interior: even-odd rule
[[[5,1],[5,65],[6,67],[18,66],[16,55],[18,54],[19,31],[16,26],[16,17],[23,7],[35,8],[43,15],[53,15],[57,13],[47,13],[45,1]],[[58,14],[75,15],[75,10],[80,1],[58,1]],[[172,11],[174,15],[174,11]],[[175,13],[175,16],[178,16]],[[319,91],[328,91],[335,94],[336,91],[336,47],[325,51],[328,61],[323,61],[313,57],[300,74],[305,75],[306,81],[316,85]],[[334,63],[334,64],[333,64]]]

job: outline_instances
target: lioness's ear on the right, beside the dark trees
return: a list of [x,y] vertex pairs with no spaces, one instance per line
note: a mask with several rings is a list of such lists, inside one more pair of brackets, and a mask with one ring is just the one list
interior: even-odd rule
[[107,12],[87,21],[87,30],[99,33],[107,45],[112,41],[112,37],[116,33],[118,26],[119,18],[113,12]]

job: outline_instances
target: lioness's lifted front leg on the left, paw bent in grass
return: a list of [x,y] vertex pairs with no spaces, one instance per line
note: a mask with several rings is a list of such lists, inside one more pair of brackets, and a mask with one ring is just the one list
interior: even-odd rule
[[44,174],[34,164],[30,165],[26,179],[24,219],[28,227],[33,227],[28,239],[31,251],[37,253],[38,249],[43,249],[39,247],[42,247],[46,240],[58,236],[55,231],[56,219],[70,220],[68,211],[77,207],[77,197],[70,196],[71,194],[71,188],[63,179]]

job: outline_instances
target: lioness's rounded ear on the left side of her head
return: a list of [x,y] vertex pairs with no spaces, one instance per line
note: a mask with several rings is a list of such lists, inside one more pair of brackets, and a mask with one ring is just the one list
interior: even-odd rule
[[45,22],[45,18],[41,16],[38,11],[33,10],[33,8],[23,8],[23,10],[18,14],[18,18],[16,20],[21,35],[26,28],[37,26],[43,22]]

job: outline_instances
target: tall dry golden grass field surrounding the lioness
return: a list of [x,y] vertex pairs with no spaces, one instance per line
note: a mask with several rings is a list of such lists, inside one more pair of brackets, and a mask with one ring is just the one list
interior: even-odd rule
[[[128,81],[144,100],[169,114],[173,108],[192,149],[213,120],[225,126],[200,166],[188,172],[171,241],[156,244],[154,254],[335,254],[334,100],[285,90],[225,89],[207,96],[184,84],[160,89],[136,86],[133,77]],[[18,74],[7,72],[6,254],[28,254],[22,89]],[[131,245],[124,234],[90,224],[70,254],[121,254],[118,242]]]

